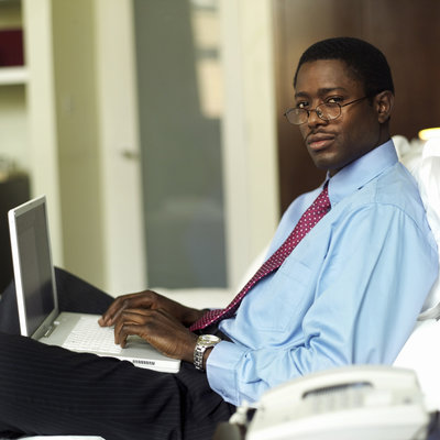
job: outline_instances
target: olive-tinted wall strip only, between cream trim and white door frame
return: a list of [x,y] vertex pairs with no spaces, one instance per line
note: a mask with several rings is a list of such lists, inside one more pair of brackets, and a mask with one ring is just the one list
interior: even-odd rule
[[52,1],[52,28],[64,266],[103,286],[94,2]]

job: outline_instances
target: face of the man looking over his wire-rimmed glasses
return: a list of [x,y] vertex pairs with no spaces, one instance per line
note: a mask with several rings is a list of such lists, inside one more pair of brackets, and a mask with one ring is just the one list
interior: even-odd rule
[[[342,61],[321,59],[299,68],[295,92],[298,108],[316,109],[323,102],[344,105],[364,96],[363,85],[348,74]],[[299,130],[315,165],[330,175],[383,142],[377,112],[369,99],[343,107],[341,116],[331,121],[311,111]]]

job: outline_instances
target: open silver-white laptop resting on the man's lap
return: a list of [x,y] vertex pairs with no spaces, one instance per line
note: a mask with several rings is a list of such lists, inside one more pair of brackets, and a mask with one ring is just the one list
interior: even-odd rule
[[9,228],[22,336],[144,369],[178,372],[180,361],[161,354],[141,338],[129,337],[124,349],[114,344],[113,330],[101,328],[98,315],[59,314],[45,196],[11,209]]

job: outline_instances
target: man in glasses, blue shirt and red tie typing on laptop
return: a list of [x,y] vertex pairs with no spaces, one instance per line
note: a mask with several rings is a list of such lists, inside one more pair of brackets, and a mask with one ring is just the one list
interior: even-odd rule
[[[0,333],[0,432],[207,439],[234,406],[282,382],[394,361],[437,277],[438,254],[389,139],[388,65],[363,41],[332,38],[305,52],[294,86],[286,117],[328,178],[287,209],[275,256],[224,314],[146,290],[116,299],[100,319],[114,324],[117,343],[139,334],[182,359],[180,372]],[[198,334],[211,332],[221,339],[204,344]]]

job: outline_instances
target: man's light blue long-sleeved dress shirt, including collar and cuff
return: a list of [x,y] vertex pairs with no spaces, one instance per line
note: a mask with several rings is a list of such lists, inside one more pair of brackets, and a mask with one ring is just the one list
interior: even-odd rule
[[[288,237],[322,187],[287,209],[271,244]],[[393,363],[438,273],[437,245],[417,184],[392,141],[329,182],[330,212],[284,264],[220,322],[208,381],[224,400],[319,370]]]

